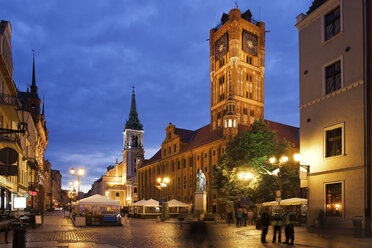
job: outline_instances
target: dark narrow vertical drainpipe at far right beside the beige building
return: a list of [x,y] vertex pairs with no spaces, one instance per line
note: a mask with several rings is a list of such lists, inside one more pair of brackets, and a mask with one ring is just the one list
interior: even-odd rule
[[366,236],[371,235],[371,195],[370,195],[370,54],[369,54],[369,0],[363,1],[364,15],[364,39],[363,39],[363,59],[364,59],[364,198],[365,198],[365,221],[364,231]]

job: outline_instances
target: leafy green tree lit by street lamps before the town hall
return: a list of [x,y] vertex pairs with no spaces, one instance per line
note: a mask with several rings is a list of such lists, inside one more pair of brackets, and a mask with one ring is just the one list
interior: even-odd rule
[[[230,202],[250,197],[253,202],[272,201],[280,188],[282,197],[297,195],[298,167],[286,164],[280,170],[280,177],[275,177],[272,171],[279,164],[268,163],[269,157],[289,156],[292,150],[293,145],[287,140],[277,141],[276,131],[270,130],[264,120],[255,121],[250,130],[227,143],[226,154],[214,168],[213,188],[217,190],[219,199]],[[253,177],[239,179],[242,172]]]

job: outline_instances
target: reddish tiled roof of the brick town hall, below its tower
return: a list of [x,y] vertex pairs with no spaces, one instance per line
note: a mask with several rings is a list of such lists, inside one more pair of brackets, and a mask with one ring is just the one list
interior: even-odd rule
[[[269,124],[269,128],[273,130],[277,130],[276,137],[280,141],[283,138],[286,138],[288,141],[293,143],[295,147],[299,147],[299,128],[281,124],[274,121],[265,120]],[[249,126],[239,125],[238,132],[242,133],[246,130],[249,130]],[[213,141],[219,140],[223,138],[223,129],[219,128],[215,131],[210,131],[210,124],[205,125],[202,128],[199,128],[195,131],[176,128],[175,134],[181,136],[181,140],[187,145],[184,147],[182,152],[186,152],[192,150],[194,148],[200,147],[202,145],[211,143]],[[158,160],[161,160],[161,149],[159,149],[154,156],[150,159],[144,161],[143,166],[148,164],[152,164]]]

